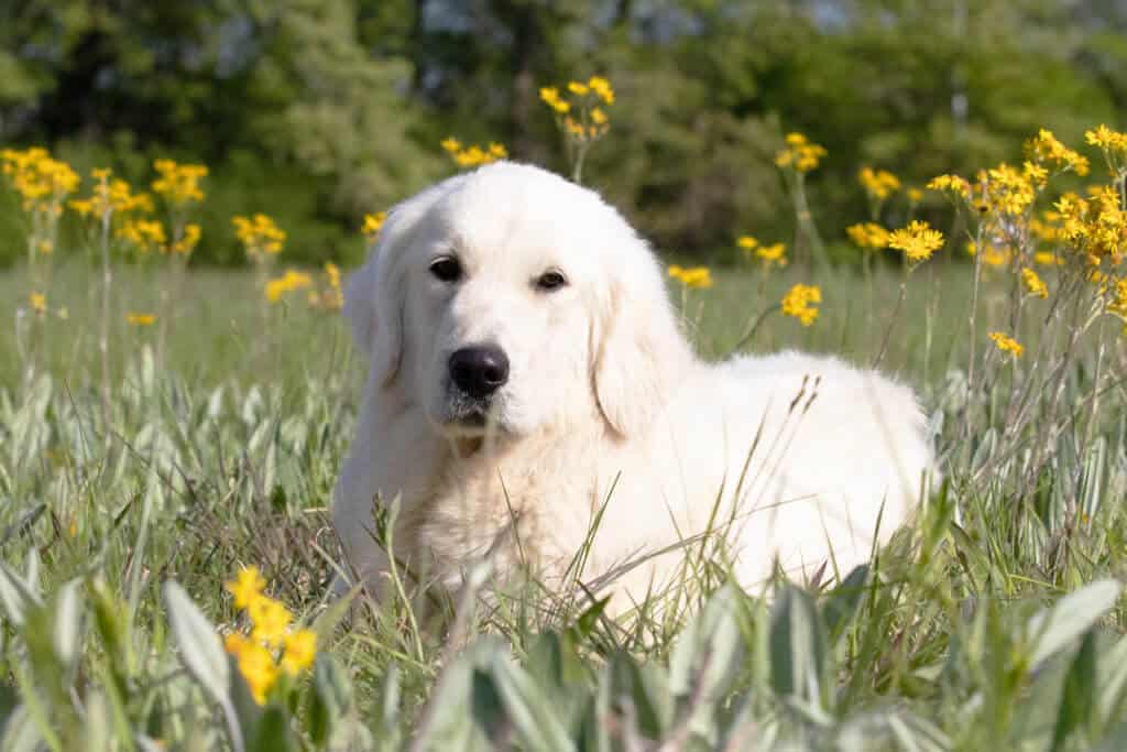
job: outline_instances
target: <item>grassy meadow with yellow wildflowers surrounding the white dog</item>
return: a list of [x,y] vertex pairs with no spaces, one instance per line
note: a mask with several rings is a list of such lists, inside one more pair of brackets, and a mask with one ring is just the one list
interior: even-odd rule
[[[1093,133],[1111,189],[1055,192],[1089,166],[1042,132],[1023,167],[933,182],[942,233],[862,171],[873,223],[828,247],[802,193],[818,153],[788,136],[793,245],[671,266],[686,329],[710,357],[799,347],[896,374],[944,483],[867,567],[746,593],[702,543],[665,609],[621,622],[534,582],[479,601],[487,563],[437,620],[402,582],[332,599],[327,507],[365,366],[339,269],[284,272],[268,218],[233,223],[248,271],[185,266],[203,176],[154,183],[159,241],[125,229],[139,194],[108,175],[86,210],[39,194],[29,262],[0,276],[0,747],[1122,749],[1127,136]],[[465,168],[491,151],[444,145]],[[74,247],[53,210],[38,223],[44,196],[88,222]]]

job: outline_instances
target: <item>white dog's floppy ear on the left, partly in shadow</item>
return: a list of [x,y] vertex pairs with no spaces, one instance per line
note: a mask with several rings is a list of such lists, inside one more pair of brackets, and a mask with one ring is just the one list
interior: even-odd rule
[[356,345],[372,359],[371,377],[383,386],[394,381],[403,355],[403,257],[424,216],[461,179],[444,180],[391,209],[367,260],[348,277],[344,316]]

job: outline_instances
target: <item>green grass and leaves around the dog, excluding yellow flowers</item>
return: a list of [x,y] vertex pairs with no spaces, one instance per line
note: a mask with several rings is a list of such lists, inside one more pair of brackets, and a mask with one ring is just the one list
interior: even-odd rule
[[[683,609],[633,627],[525,592],[455,604],[443,629],[419,626],[408,600],[360,599],[345,612],[328,595],[339,559],[327,507],[363,379],[344,322],[300,298],[264,317],[251,275],[192,272],[175,315],[161,311],[169,339],[158,357],[156,329],[124,319],[157,310],[156,273],[116,274],[108,425],[85,263],[60,264],[52,286],[50,306],[65,304],[68,319],[25,317],[21,334],[0,331],[10,355],[0,363],[3,749],[1111,750],[1127,740],[1116,326],[1093,329],[1059,380],[988,355],[968,389],[967,265],[917,269],[895,315],[899,271],[877,274],[872,302],[860,276],[835,271],[819,280],[815,326],[774,313],[747,350],[871,363],[887,339],[881,368],[923,395],[950,480],[912,529],[841,583],[778,583],[766,601],[704,567]],[[719,274],[713,289],[685,291],[687,328],[708,356],[725,355],[796,281],[793,271]],[[1009,285],[1002,273],[984,280],[978,357],[986,330],[1012,331]],[[23,306],[27,289],[21,271],[0,276],[0,300]],[[1027,348],[1056,336],[1046,311],[1015,333]],[[26,378],[15,354],[32,342],[38,365]],[[1062,407],[1037,401],[1040,419],[1019,424],[1008,408],[1030,383],[1045,400],[1058,384]],[[1093,404],[1095,387],[1106,392]],[[1038,465],[1041,450],[1051,459]],[[246,625],[223,589],[246,565],[319,637],[312,672],[265,707],[215,637]]]

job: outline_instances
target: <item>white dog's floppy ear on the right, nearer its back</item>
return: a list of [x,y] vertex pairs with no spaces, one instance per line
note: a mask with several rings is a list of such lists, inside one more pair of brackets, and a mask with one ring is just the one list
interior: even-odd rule
[[624,251],[632,263],[612,274],[592,343],[598,409],[622,437],[646,431],[694,360],[660,266],[640,239],[631,240],[637,247]]

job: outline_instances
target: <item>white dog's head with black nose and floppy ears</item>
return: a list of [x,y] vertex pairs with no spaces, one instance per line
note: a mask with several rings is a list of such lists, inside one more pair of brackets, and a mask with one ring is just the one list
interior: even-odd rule
[[396,206],[345,315],[369,378],[451,437],[520,436],[596,410],[630,436],[692,357],[662,269],[622,216],[512,162]]

